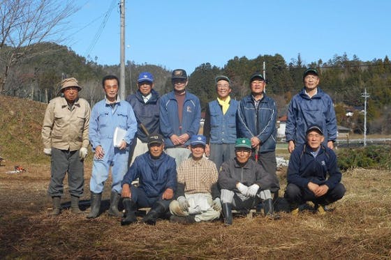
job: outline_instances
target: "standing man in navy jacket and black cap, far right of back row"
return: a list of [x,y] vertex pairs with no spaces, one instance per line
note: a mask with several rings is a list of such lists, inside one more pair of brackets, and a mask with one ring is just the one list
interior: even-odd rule
[[337,139],[337,119],[330,95],[323,92],[318,70],[309,68],[303,74],[304,88],[293,96],[288,106],[288,120],[286,121],[286,142],[288,151],[292,153],[295,146],[305,144],[309,125],[319,125],[324,132],[323,144],[334,148]]

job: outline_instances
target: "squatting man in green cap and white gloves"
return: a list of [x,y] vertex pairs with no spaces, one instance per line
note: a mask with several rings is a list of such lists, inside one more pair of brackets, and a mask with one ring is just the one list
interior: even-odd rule
[[221,204],[224,223],[233,223],[232,209],[249,211],[260,202],[265,216],[274,220],[272,192],[279,190],[279,180],[275,174],[267,172],[251,158],[251,141],[238,138],[235,144],[236,157],[224,162],[219,173]]

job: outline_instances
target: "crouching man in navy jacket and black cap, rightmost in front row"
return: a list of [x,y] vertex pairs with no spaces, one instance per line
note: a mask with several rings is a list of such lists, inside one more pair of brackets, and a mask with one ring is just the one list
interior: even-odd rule
[[344,197],[346,189],[340,183],[337,156],[322,144],[325,137],[320,125],[310,125],[306,136],[307,143],[297,146],[290,154],[284,197],[293,215],[299,213],[299,206],[306,201],[311,201],[323,215],[325,206]]

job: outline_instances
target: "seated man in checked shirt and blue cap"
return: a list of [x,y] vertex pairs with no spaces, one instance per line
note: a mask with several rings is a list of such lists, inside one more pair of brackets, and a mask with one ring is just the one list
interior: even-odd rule
[[170,204],[172,222],[189,224],[220,217],[218,173],[214,162],[203,157],[205,142],[205,136],[193,135],[190,139],[191,158],[184,160],[177,169],[177,199]]

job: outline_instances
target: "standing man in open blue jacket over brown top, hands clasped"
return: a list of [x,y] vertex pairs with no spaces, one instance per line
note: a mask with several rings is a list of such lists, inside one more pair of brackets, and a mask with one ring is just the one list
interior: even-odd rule
[[186,91],[188,77],[186,70],[172,71],[171,77],[174,90],[166,93],[160,99],[160,130],[165,138],[166,153],[179,166],[189,158],[189,139],[200,130],[201,106],[200,100]]

